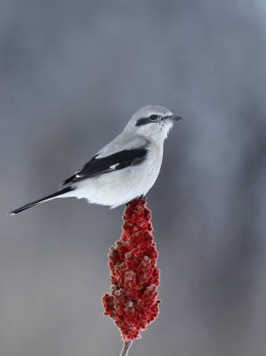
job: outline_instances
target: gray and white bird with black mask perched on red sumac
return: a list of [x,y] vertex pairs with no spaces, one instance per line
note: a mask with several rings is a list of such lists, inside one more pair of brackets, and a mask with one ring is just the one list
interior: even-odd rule
[[145,197],[157,180],[165,139],[179,120],[180,116],[162,106],[139,109],[123,132],[62,182],[59,190],[8,214],[18,214],[54,198],[86,198],[89,203],[114,208]]

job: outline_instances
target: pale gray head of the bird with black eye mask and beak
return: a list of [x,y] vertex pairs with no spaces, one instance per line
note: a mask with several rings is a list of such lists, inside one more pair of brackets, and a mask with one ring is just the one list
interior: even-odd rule
[[173,126],[181,117],[162,107],[149,105],[139,109],[131,118],[126,130],[147,137],[149,140],[164,141]]

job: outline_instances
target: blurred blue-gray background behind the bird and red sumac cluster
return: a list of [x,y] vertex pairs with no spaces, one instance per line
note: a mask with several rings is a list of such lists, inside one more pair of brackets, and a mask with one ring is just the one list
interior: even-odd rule
[[134,111],[184,117],[149,208],[160,315],[130,355],[266,352],[266,3],[0,2],[0,354],[117,355],[103,317],[124,206],[57,189]]

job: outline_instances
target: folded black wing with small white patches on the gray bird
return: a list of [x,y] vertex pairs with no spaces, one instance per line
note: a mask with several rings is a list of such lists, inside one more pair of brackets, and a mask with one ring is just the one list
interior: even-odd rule
[[66,179],[66,181],[62,182],[60,185],[69,184],[70,182],[78,182],[99,174],[114,172],[127,166],[140,165],[146,159],[147,153],[147,149],[141,148],[121,150],[120,152],[103,158],[97,158],[98,155],[96,155],[87,162],[80,171]]

